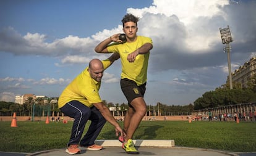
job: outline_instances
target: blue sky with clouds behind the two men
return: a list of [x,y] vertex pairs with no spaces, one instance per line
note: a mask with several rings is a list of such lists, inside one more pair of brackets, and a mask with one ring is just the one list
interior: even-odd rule
[[[149,105],[193,104],[226,83],[228,57],[220,28],[229,25],[232,72],[256,56],[256,1],[229,0],[2,0],[0,101],[35,94],[59,97],[91,59],[95,46],[122,33],[122,17],[139,17],[137,35],[153,40],[148,62]],[[127,103],[121,62],[105,70],[101,99]]]

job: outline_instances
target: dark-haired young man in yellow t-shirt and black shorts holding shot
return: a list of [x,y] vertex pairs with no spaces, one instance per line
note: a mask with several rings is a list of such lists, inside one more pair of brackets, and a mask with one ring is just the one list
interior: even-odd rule
[[[115,34],[95,47],[98,53],[117,52],[121,58],[121,89],[126,96],[129,109],[124,117],[126,137],[119,138],[119,141],[123,142],[122,148],[128,154],[139,154],[132,142],[132,136],[147,112],[147,104],[143,96],[146,90],[148,59],[153,48],[150,38],[137,36],[138,21],[139,18],[134,15],[126,14],[122,18],[126,42],[122,43],[119,39],[120,34]],[[112,42],[114,43],[110,44]]]

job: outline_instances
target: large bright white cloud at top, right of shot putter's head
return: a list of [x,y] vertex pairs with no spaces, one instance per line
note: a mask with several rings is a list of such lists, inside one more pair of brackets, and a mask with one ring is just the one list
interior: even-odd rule
[[[143,34],[158,36],[155,40],[156,44],[169,44],[168,41],[170,41],[173,46],[187,47],[186,52],[202,53],[210,49],[212,44],[220,42],[218,34],[220,26],[209,27],[208,22],[213,17],[224,16],[221,8],[228,5],[228,1],[156,0],[153,4],[155,6],[148,9],[130,8],[127,12],[143,17],[141,22],[145,22],[143,26],[148,27],[148,32]],[[157,15],[145,18],[147,13]]]

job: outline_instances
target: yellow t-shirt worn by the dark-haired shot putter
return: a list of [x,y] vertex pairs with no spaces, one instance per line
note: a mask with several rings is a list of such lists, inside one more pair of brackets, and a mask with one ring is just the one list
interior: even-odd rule
[[137,55],[134,62],[127,60],[127,55],[134,52],[145,43],[151,43],[152,39],[145,36],[137,36],[136,41],[124,44],[110,44],[108,52],[118,52],[122,63],[121,79],[128,78],[137,83],[138,86],[147,81],[148,59],[150,53]]

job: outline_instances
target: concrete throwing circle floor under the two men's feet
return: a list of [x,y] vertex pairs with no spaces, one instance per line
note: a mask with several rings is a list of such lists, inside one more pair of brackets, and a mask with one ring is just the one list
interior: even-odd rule
[[[56,149],[56,150],[45,150],[41,152],[36,152],[34,154],[28,154],[27,156],[63,156],[69,155],[65,152],[66,149]],[[224,152],[221,150],[212,150],[212,149],[197,149],[197,148],[187,148],[187,147],[138,147],[139,155],[178,155],[178,156],[227,156],[237,154]],[[84,150],[81,148],[81,154],[79,155],[95,155],[95,156],[120,156],[126,155],[126,152],[121,147],[104,147],[102,150]]]

